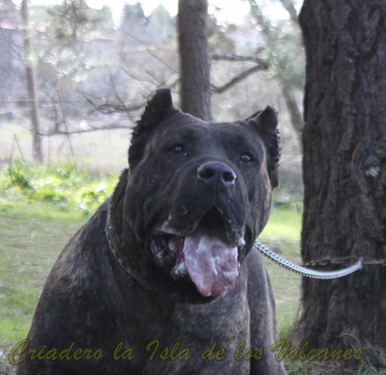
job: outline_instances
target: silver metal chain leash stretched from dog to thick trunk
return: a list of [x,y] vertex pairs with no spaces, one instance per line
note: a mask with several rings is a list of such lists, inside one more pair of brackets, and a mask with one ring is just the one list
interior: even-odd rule
[[269,250],[264,245],[261,245],[261,243],[258,242],[257,240],[254,242],[254,246],[257,250],[259,250],[261,253],[266,255],[272,261],[274,261],[278,265],[286,268],[287,270],[290,270],[290,271],[295,272],[295,273],[302,275],[302,276],[311,277],[311,278],[319,278],[319,279],[323,279],[323,280],[331,280],[331,279],[347,276],[350,273],[353,273],[355,271],[362,269],[362,264],[363,264],[363,258],[359,258],[357,263],[354,264],[353,266],[343,268],[343,269],[338,270],[338,271],[315,271],[315,270],[311,270],[309,268],[295,265],[294,263],[290,262],[289,260],[284,259],[280,255]]

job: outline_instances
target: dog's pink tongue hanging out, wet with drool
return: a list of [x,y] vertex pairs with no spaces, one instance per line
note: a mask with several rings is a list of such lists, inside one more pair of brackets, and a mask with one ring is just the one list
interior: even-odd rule
[[185,265],[203,296],[224,296],[236,282],[237,248],[203,231],[185,237]]

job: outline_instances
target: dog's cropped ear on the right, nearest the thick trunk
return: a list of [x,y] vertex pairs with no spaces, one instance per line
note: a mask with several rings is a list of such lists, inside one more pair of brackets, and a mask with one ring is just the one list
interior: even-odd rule
[[278,185],[278,164],[280,159],[280,137],[277,129],[276,110],[270,106],[244,120],[250,128],[257,130],[267,149],[268,173],[272,188]]

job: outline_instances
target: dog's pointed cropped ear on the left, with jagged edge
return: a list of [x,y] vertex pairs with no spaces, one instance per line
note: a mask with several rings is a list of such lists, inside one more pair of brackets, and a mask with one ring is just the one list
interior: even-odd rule
[[133,129],[131,145],[129,147],[129,167],[134,167],[143,156],[146,144],[146,134],[162,120],[176,112],[171,100],[169,89],[158,90],[147,103],[141,119]]

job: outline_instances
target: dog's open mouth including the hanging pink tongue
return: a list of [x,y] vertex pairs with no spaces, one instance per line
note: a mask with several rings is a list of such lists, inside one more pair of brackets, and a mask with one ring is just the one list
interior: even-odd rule
[[171,269],[174,279],[189,276],[203,296],[224,296],[235,285],[238,249],[227,238],[222,216],[215,208],[185,237],[153,235],[151,251],[159,265]]

